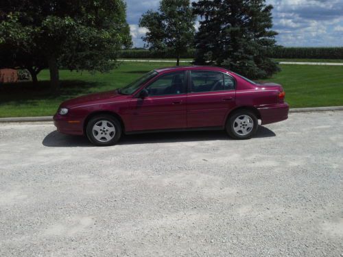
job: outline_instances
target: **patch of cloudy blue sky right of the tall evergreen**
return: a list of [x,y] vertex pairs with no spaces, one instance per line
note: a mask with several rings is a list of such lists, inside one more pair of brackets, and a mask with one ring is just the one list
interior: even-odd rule
[[342,46],[342,0],[268,0],[273,29],[284,46]]

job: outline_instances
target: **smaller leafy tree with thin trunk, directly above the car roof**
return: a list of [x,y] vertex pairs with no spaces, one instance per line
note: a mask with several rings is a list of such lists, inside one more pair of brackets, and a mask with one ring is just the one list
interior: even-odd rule
[[189,0],[162,0],[158,12],[147,11],[139,21],[139,27],[148,29],[143,40],[150,50],[171,51],[180,56],[193,45],[196,15]]

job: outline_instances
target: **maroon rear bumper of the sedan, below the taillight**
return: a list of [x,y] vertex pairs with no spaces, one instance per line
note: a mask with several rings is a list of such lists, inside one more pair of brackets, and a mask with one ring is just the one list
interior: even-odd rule
[[276,103],[258,107],[261,114],[262,125],[285,121],[288,118],[289,106],[287,103]]

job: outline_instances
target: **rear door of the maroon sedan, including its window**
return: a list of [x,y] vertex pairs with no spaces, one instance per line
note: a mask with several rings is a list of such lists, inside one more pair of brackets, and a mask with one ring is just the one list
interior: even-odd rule
[[235,79],[219,71],[189,71],[187,127],[219,127],[235,106]]

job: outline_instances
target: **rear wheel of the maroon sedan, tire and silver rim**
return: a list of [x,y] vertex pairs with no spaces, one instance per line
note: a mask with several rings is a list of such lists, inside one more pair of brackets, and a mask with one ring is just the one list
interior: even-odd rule
[[238,110],[228,117],[226,132],[231,138],[249,139],[259,127],[259,121],[254,112],[250,110]]

